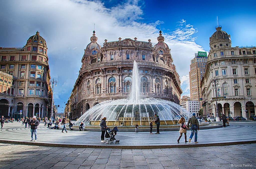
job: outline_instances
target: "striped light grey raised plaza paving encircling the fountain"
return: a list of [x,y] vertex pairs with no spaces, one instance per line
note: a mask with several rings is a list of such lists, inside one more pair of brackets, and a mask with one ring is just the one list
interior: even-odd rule
[[[203,143],[222,143],[222,142],[238,142],[238,141],[253,141],[256,140],[256,135],[252,130],[256,129],[254,122],[237,122],[232,123],[225,128],[205,129],[198,131],[198,144]],[[101,143],[101,132],[95,131],[68,131],[66,133],[61,130],[54,130],[44,127],[40,124],[37,130],[37,143],[56,143],[56,144],[72,144],[72,145],[112,145],[112,146],[157,146],[157,145],[181,145],[195,144],[194,138],[191,143],[184,142],[184,136],[177,144],[179,137],[178,131],[164,131],[161,134],[150,135],[149,132],[118,132],[115,136],[120,139],[119,144]],[[187,132],[187,139],[190,136],[190,131]],[[0,140],[10,141],[25,141],[31,139],[30,129],[24,128],[21,125],[6,125],[0,129]],[[49,137],[50,136],[50,137]],[[52,137],[53,136],[53,137]],[[114,147],[112,147],[114,148]]]

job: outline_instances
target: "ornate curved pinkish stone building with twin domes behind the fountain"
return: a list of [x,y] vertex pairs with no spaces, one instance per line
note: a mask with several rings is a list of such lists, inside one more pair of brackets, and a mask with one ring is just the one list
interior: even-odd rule
[[[84,49],[82,67],[66,113],[71,119],[80,117],[90,107],[113,99],[129,97],[132,86],[133,62],[140,74],[141,97],[165,99],[179,104],[182,89],[170,49],[159,31],[158,43],[118,38],[118,41],[97,43],[95,31]],[[68,114],[67,114],[68,115]]]

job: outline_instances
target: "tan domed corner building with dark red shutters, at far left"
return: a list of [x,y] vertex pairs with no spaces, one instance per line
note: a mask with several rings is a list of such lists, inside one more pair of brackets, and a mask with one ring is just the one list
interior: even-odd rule
[[0,47],[0,58],[0,115],[13,117],[21,111],[24,117],[49,116],[50,69],[46,41],[39,32],[24,47]]

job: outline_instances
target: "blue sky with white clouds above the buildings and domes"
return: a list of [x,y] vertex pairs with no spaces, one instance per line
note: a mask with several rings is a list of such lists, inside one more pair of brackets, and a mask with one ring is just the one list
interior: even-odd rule
[[[254,1],[151,0],[2,0],[0,47],[24,46],[40,32],[48,47],[50,76],[58,81],[54,101],[63,112],[78,77],[84,49],[95,29],[98,43],[137,37],[157,43],[161,23],[165,43],[180,76],[183,95],[190,95],[190,60],[198,51],[209,52],[209,37],[222,30],[231,46],[256,46]],[[95,23],[95,28],[94,28]],[[185,66],[184,66],[185,65]],[[63,107],[63,108],[62,108]]]

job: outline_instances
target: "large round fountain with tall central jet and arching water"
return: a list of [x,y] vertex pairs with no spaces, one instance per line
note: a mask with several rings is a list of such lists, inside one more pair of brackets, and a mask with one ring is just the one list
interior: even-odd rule
[[107,126],[133,126],[136,123],[148,126],[154,121],[154,114],[158,114],[160,125],[175,125],[181,117],[187,121],[192,113],[180,105],[162,99],[140,98],[140,80],[136,61],[133,64],[132,89],[129,99],[109,100],[101,102],[86,113],[75,123],[83,122],[86,126],[98,126],[106,117]]

